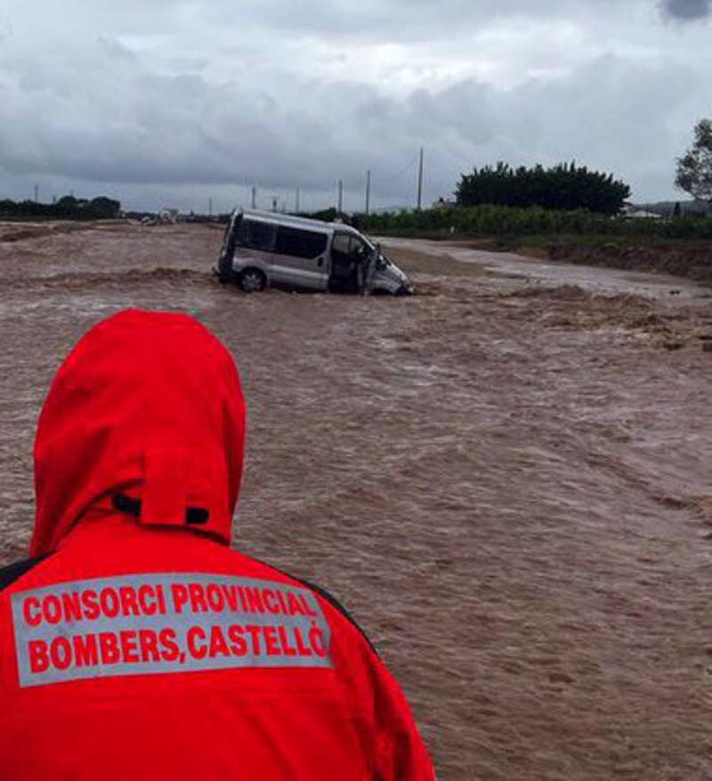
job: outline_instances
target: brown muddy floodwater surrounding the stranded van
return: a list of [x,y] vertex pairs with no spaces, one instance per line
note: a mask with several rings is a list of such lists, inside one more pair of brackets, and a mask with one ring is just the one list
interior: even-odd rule
[[188,312],[247,394],[235,544],[352,610],[443,781],[712,778],[712,291],[401,241],[422,295],[247,296],[220,242],[0,225],[0,564],[62,357]]

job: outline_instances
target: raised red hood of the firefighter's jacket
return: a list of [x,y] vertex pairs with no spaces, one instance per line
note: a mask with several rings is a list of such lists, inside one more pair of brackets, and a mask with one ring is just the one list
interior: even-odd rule
[[210,331],[183,314],[128,310],[102,321],[62,363],[44,401],[30,555],[56,549],[87,510],[110,507],[117,493],[140,500],[142,524],[229,544],[244,444],[238,371]]

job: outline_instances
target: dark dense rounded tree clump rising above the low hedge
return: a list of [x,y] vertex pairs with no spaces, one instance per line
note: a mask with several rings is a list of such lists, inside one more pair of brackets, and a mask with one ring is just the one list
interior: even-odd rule
[[630,197],[630,188],[612,174],[589,171],[576,163],[552,168],[512,168],[497,166],[474,168],[457,183],[457,205],[542,207],[572,211],[587,209],[604,215],[616,215]]

